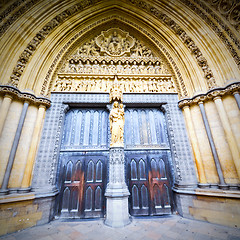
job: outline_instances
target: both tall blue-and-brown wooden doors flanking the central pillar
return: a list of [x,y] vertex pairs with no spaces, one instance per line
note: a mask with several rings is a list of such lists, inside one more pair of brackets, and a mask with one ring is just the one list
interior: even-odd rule
[[[108,115],[101,108],[72,108],[66,113],[57,181],[61,217],[104,216]],[[134,216],[171,213],[170,150],[164,119],[157,108],[125,109],[126,182]]]

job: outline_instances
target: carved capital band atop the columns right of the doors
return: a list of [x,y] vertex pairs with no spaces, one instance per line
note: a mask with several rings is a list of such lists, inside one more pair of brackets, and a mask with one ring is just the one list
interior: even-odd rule
[[223,88],[214,88],[205,94],[199,94],[192,98],[184,98],[178,102],[178,106],[179,108],[183,108],[185,106],[199,104],[211,99],[216,99],[217,97],[222,97],[226,94],[235,94],[237,92],[240,92],[240,82],[228,84]]

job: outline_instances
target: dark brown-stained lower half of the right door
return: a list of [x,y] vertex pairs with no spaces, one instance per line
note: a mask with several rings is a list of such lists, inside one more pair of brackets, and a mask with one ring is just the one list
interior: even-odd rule
[[129,207],[133,216],[171,214],[168,153],[130,152],[127,157]]

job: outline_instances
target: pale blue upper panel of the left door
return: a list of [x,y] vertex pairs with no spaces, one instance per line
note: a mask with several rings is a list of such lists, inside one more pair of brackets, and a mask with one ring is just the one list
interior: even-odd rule
[[108,125],[106,109],[70,109],[65,116],[61,150],[107,150]]

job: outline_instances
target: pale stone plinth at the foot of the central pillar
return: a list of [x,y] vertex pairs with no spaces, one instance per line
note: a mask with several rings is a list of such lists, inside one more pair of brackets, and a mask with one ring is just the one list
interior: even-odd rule
[[[123,189],[122,189],[123,190]],[[110,227],[124,227],[131,221],[128,213],[128,189],[109,189],[107,198],[105,224]]]

